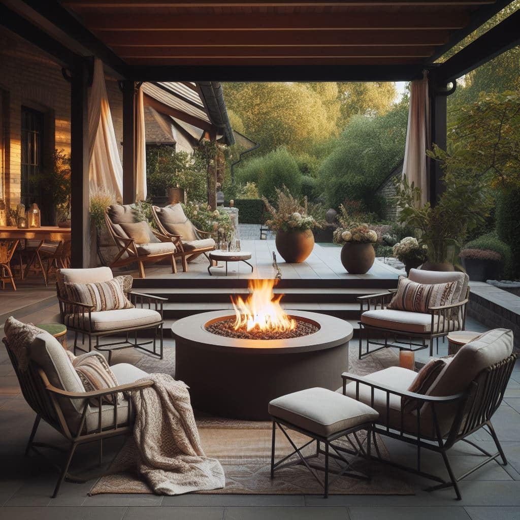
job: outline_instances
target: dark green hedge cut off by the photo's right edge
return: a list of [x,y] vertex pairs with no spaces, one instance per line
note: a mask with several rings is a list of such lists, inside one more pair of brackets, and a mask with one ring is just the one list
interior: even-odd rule
[[520,190],[502,192],[497,198],[495,212],[497,235],[511,248],[511,273],[520,277]]

